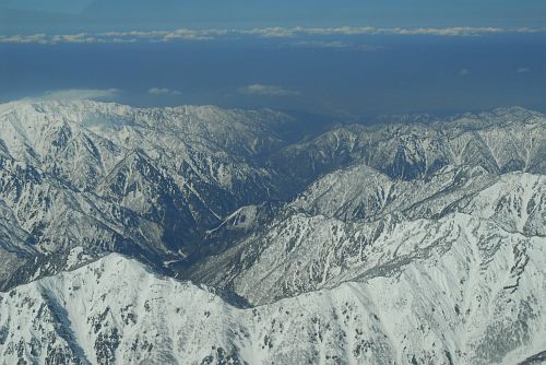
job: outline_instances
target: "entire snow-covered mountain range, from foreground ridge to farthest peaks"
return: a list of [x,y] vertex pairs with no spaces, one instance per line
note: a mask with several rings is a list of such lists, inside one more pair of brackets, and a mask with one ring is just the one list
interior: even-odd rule
[[309,126],[1,105],[0,360],[544,357],[544,115]]

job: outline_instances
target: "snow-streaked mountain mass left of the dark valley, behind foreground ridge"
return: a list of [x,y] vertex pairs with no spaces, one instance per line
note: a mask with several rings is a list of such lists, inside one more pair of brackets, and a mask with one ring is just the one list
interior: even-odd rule
[[[213,106],[5,104],[0,201],[49,268],[43,270],[63,267],[75,247],[163,263],[185,257],[204,231],[239,207],[294,193],[260,165],[286,145],[278,136],[294,123],[272,110]],[[0,278],[21,263],[2,260]],[[12,282],[35,270],[27,266]],[[13,283],[0,281],[0,287]]]

